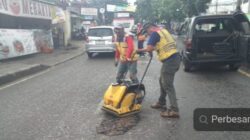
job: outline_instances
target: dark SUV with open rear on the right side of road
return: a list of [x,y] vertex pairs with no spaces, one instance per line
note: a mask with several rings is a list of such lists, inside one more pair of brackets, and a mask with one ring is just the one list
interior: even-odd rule
[[184,70],[203,64],[229,65],[237,70],[246,55],[249,29],[249,21],[241,12],[187,19],[178,37],[184,44]]

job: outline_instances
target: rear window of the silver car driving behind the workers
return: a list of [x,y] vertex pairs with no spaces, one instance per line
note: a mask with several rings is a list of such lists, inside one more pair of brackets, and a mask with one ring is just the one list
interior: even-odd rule
[[113,30],[110,28],[96,28],[96,29],[89,29],[89,36],[113,36]]

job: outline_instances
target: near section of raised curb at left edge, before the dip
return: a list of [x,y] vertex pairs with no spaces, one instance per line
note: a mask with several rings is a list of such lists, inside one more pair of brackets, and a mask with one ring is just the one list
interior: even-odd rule
[[0,76],[0,85],[4,85],[4,84],[10,83],[10,82],[13,82],[17,79],[20,79],[22,77],[25,77],[25,76],[28,76],[31,74],[35,74],[37,72],[46,70],[48,68],[50,68],[50,66],[37,64],[37,65],[33,65],[31,67],[22,69],[20,71],[8,73],[6,75]]

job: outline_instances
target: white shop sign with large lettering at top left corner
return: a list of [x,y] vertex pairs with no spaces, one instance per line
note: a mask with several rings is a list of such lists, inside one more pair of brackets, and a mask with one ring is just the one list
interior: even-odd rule
[[33,0],[0,0],[0,13],[12,16],[51,19],[51,8]]

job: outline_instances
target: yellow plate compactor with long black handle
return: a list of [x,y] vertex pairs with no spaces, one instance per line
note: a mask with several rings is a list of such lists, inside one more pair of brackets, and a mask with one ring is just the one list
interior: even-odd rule
[[134,84],[124,80],[118,85],[111,84],[104,94],[102,109],[117,117],[125,117],[140,112],[142,101],[146,95],[145,86],[142,82],[151,61],[152,57],[150,57],[140,83]]

